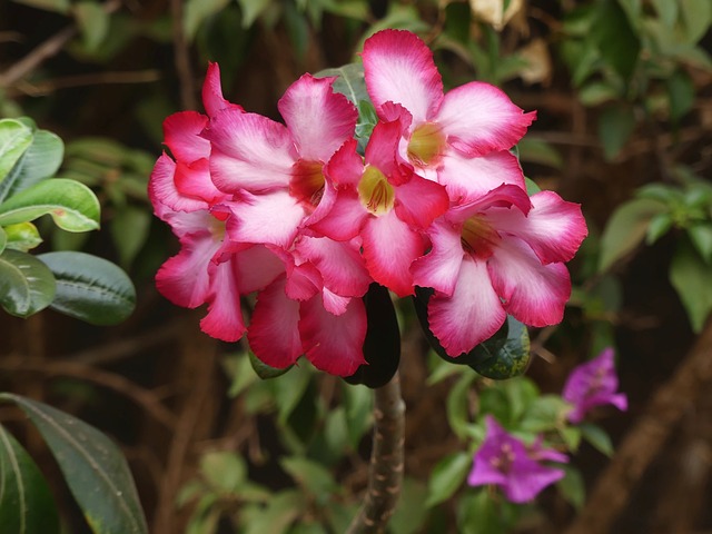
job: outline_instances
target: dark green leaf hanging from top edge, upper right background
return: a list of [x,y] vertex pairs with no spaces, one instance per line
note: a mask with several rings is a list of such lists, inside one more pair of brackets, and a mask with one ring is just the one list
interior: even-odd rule
[[641,42],[616,0],[599,2],[596,17],[591,27],[591,38],[601,51],[603,60],[623,80],[630,80],[637,63]]

